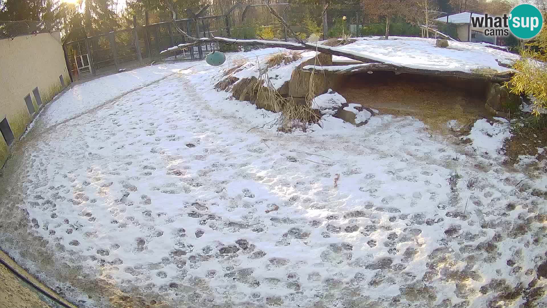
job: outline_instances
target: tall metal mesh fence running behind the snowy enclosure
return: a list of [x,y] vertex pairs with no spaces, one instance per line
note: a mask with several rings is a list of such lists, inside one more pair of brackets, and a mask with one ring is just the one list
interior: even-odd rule
[[[288,36],[288,31],[265,5],[241,4],[233,8],[228,15],[212,15],[219,10],[209,8],[200,14],[199,18],[177,20],[176,25],[189,35],[200,38],[217,36],[293,41],[293,38]],[[290,29],[302,39],[306,39],[312,33],[324,35],[325,38],[361,34],[362,10],[358,5],[329,4],[325,8],[325,5],[272,3],[272,8],[283,16]],[[67,64],[71,67],[72,75],[75,79],[88,78],[166,58],[202,59],[211,50],[221,48],[217,43],[208,43],[161,54],[162,50],[189,43],[188,38],[177,32],[171,15],[167,13],[148,14],[148,24],[140,24],[139,20],[142,21],[143,18],[139,16],[136,28],[102,33],[65,43]],[[40,28],[36,23],[33,25],[36,28],[34,31],[44,31],[44,27]]]

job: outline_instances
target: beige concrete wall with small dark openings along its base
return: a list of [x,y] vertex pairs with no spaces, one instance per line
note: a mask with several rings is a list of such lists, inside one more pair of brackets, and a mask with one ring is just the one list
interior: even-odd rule
[[[38,114],[39,108],[61,92],[59,76],[70,83],[59,32],[0,39],[0,121],[8,119],[15,141]],[[32,90],[38,87],[42,106]],[[25,96],[31,95],[35,112],[31,115]],[[12,144],[12,145],[13,145]],[[0,136],[0,167],[8,158],[8,145]]]

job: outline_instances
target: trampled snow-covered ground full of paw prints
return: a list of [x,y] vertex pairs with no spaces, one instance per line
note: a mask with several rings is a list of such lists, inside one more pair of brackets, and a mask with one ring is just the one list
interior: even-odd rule
[[0,177],[2,249],[82,307],[547,304],[547,178],[499,164],[508,123],[470,145],[390,115],[278,133],[212,89],[228,66],[51,102]]

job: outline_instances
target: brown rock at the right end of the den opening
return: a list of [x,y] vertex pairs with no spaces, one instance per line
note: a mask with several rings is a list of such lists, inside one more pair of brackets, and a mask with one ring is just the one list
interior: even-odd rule
[[485,108],[493,116],[507,117],[509,112],[513,113],[519,109],[521,102],[520,96],[509,93],[507,88],[501,87],[498,83],[489,83],[486,88]]

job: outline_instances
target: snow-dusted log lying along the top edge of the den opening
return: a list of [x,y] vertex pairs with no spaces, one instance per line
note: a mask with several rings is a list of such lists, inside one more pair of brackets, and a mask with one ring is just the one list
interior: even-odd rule
[[[314,69],[313,65],[306,65],[302,67],[302,71],[311,72]],[[509,81],[511,76],[514,75],[514,70],[507,70],[498,73],[482,73],[482,72],[460,72],[460,71],[437,71],[437,70],[427,70],[427,69],[412,69],[406,66],[399,66],[389,63],[364,63],[356,65],[343,65],[343,66],[325,66],[319,67],[315,66],[315,71],[323,71],[325,73],[335,74],[335,75],[352,75],[363,72],[394,72],[396,74],[400,73],[409,73],[416,75],[430,75],[430,76],[451,76],[458,77],[462,79],[482,79],[493,82],[503,82]]]

